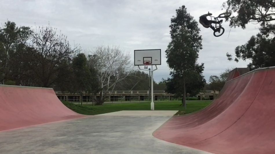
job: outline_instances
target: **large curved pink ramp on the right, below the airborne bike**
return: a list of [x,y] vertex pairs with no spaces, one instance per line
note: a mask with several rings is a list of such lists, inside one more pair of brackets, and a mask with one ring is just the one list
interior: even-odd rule
[[226,82],[202,111],[172,117],[156,138],[211,153],[275,153],[275,68]]

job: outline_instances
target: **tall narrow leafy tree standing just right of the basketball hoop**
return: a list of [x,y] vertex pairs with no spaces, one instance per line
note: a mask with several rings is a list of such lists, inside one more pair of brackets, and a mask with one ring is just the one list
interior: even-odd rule
[[[186,108],[186,82],[194,79],[200,67],[203,70],[203,64],[198,65],[198,53],[202,49],[201,35],[198,23],[187,12],[183,5],[176,10],[176,16],[173,16],[170,24],[171,42],[166,49],[166,57],[168,66],[173,69],[172,77],[180,80],[178,91],[182,91],[183,105]],[[202,72],[202,71],[201,71]],[[190,81],[188,81],[190,82]]]

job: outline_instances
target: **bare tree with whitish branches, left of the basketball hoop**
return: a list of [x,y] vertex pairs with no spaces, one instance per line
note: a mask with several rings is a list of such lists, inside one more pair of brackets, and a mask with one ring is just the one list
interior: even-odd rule
[[102,105],[113,92],[116,84],[124,80],[132,71],[130,55],[124,54],[117,46],[98,46],[89,56],[89,63],[97,70],[100,82],[100,98],[96,105]]

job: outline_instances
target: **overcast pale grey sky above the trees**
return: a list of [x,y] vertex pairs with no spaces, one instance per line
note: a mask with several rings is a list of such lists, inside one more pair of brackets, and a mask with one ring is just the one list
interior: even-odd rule
[[[13,21],[17,26],[47,26],[48,23],[68,36],[82,49],[97,45],[119,45],[132,56],[135,49],[161,49],[162,65],[154,72],[155,81],[169,77],[165,50],[170,41],[170,19],[175,10],[185,5],[187,11],[199,20],[208,11],[214,16],[223,12],[225,0],[1,0],[1,23]],[[213,36],[210,28],[199,24],[203,49],[199,63],[204,63],[203,75],[219,75],[226,68],[246,67],[249,61],[229,62],[226,52],[234,53],[238,45],[258,33],[259,25],[248,25],[245,30],[223,23],[225,33]]]

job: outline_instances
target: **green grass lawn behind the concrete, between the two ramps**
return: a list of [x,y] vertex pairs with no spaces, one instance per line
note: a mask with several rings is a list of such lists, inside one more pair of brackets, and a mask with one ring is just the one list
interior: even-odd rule
[[[187,101],[187,109],[181,106],[180,101],[169,102],[155,102],[155,110],[178,110],[184,111],[185,114],[192,113],[194,111],[201,110],[209,105],[211,101]],[[135,103],[108,103],[104,105],[92,106],[91,104],[76,105],[73,103],[63,101],[69,109],[86,115],[96,115],[103,113],[110,113],[122,110],[150,110],[150,102],[135,102]],[[182,114],[182,113],[177,113]]]

